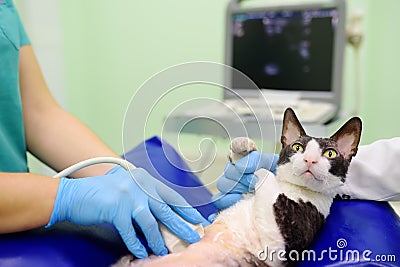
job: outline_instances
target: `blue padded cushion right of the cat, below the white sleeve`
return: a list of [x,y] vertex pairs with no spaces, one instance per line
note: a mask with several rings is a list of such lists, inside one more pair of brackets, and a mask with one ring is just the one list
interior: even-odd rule
[[335,201],[310,250],[299,266],[400,266],[400,218],[387,202]]

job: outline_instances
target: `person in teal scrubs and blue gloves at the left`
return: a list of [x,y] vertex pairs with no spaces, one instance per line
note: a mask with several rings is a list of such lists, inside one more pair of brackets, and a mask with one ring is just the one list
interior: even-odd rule
[[[206,220],[175,191],[143,169],[128,171],[96,165],[75,174],[82,179],[55,179],[28,172],[26,152],[60,171],[98,156],[118,157],[92,131],[56,103],[49,92],[29,38],[12,0],[0,0],[0,233],[70,221],[80,225],[111,223],[129,250],[147,257],[138,241],[136,221],[157,255],[167,254],[157,220],[184,241],[199,235],[159,199],[174,199],[192,223]],[[156,194],[155,193],[155,194]]]

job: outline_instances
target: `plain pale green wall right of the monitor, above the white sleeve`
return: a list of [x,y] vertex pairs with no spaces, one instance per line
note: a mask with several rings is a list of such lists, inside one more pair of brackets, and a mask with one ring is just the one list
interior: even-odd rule
[[365,139],[400,136],[400,1],[369,1],[362,64]]

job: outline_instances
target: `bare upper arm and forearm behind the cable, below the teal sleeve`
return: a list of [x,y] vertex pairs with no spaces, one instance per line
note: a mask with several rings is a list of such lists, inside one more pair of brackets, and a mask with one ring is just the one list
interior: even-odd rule
[[[30,45],[21,47],[19,63],[26,142],[33,155],[56,171],[88,158],[118,157],[88,127],[56,103]],[[102,175],[111,168],[108,164],[95,165],[74,176]]]

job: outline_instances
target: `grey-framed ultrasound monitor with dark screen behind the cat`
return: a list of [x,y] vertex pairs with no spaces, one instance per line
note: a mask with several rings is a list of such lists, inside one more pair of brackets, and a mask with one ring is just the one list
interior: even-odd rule
[[[261,89],[296,91],[304,98],[339,105],[344,25],[344,1],[257,7],[231,1],[226,64]],[[252,96],[254,88],[246,88],[233,75],[227,77],[234,91]]]

